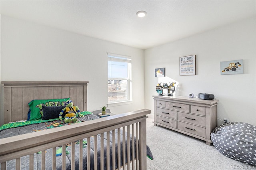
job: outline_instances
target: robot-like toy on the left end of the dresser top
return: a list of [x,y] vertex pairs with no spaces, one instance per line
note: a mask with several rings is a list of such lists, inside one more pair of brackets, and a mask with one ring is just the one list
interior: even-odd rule
[[172,94],[175,91],[175,85],[176,82],[172,82],[168,85],[168,83],[163,83],[163,85],[161,85],[161,83],[158,83],[156,86],[156,92],[158,93],[158,95],[163,95],[163,96],[172,96]]

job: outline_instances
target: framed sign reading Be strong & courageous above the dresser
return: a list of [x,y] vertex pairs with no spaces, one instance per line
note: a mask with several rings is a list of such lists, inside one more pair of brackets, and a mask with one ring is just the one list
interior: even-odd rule
[[196,55],[180,57],[180,75],[196,75]]

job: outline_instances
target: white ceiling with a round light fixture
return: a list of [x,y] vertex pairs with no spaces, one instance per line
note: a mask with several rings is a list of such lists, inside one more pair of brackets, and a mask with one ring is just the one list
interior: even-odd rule
[[[148,49],[256,16],[255,0],[1,0],[1,15]],[[147,15],[138,18],[136,12]]]

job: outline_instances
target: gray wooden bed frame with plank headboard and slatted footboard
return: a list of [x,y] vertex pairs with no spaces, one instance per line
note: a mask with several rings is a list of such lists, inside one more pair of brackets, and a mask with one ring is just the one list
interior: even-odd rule
[[[28,113],[28,103],[33,99],[60,99],[68,98],[80,108],[81,111],[87,111],[87,85],[88,81],[65,81],[65,82],[42,82],[42,81],[2,81],[4,87],[4,123],[26,120]],[[127,131],[132,141],[132,161],[126,164],[127,169],[146,170],[146,118],[150,113],[148,109],[132,111],[120,115],[104,117],[92,121],[76,123],[73,125],[42,130],[29,134],[0,139],[0,163],[1,169],[6,169],[6,161],[16,159],[16,169],[20,169],[20,161],[22,156],[30,156],[30,169],[33,169],[33,154],[42,151],[42,169],[45,169],[45,150],[52,148],[52,165],[53,170],[56,169],[56,146],[62,146],[62,169],[66,169],[66,152],[65,144],[71,143],[71,169],[74,169],[74,143],[79,140],[82,143],[83,138],[87,138],[87,145],[90,148],[90,136],[96,137],[98,134],[102,136],[100,147],[100,161],[103,162],[103,135],[107,134],[107,164],[106,169],[110,168],[110,131],[115,134],[118,131],[118,150],[115,150],[115,135],[113,135],[113,152],[118,152],[118,169],[121,168],[120,160],[125,162],[125,154],[120,156],[120,131]],[[130,130],[131,129],[131,130]],[[131,134],[131,136],[130,136]],[[54,138],[52,137],[54,136]],[[125,139],[125,135],[124,139]],[[123,140],[124,140],[123,139]],[[38,142],[40,141],[40,142]],[[127,140],[130,143],[130,140]],[[123,149],[125,150],[125,145]],[[133,149],[136,147],[136,150]],[[94,142],[94,148],[97,150],[97,142]],[[127,144],[127,160],[130,160],[130,144]],[[134,151],[135,150],[135,151]],[[137,158],[134,159],[134,154]],[[97,156],[97,154],[94,154]],[[116,164],[115,154],[113,156],[113,164]],[[80,162],[82,162],[82,145],[80,145]],[[97,158],[94,157],[94,169],[97,169]],[[130,165],[132,167],[130,167]],[[101,164],[100,169],[103,169]],[[90,150],[87,152],[87,169],[90,169]],[[113,166],[114,169],[114,166]],[[82,163],[80,163],[82,170]]]

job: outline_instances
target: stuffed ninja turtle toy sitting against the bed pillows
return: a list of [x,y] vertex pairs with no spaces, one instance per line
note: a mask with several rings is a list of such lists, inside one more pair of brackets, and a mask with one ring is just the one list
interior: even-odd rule
[[60,111],[59,119],[62,121],[62,114],[65,114],[64,122],[76,122],[76,113],[78,113],[79,117],[84,117],[84,115],[80,114],[80,109],[77,106],[73,106],[73,102],[71,100],[66,101],[66,107]]

